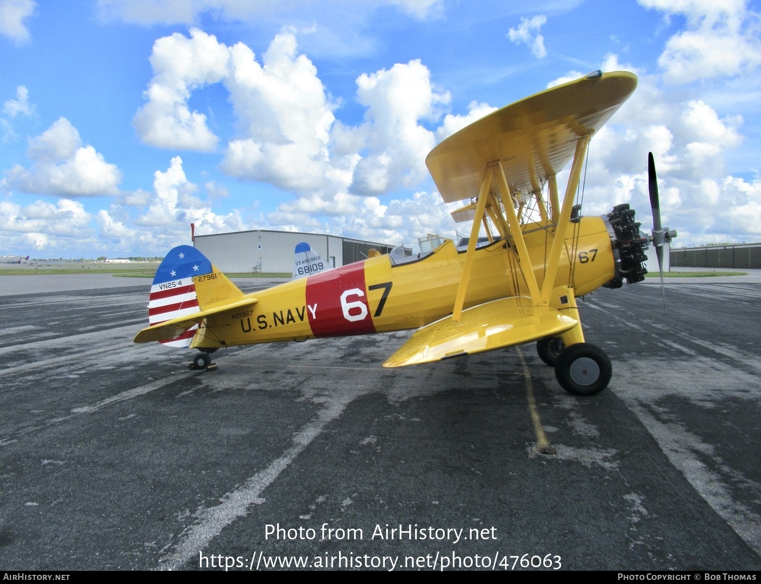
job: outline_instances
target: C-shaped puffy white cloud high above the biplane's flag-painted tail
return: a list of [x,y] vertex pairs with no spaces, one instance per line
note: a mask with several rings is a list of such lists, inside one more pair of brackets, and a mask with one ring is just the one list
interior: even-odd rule
[[133,123],[147,144],[210,152],[218,138],[206,126],[206,116],[188,107],[190,92],[221,81],[228,74],[230,51],[216,37],[190,30],[190,38],[175,33],[153,45],[154,76],[145,90],[148,103],[135,114]]

